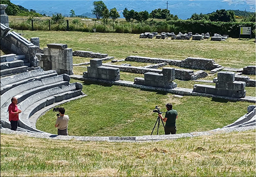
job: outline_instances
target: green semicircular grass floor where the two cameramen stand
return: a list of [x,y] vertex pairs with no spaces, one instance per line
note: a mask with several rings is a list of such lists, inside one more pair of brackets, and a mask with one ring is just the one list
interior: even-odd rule
[[[77,81],[71,79],[71,82]],[[70,117],[69,135],[150,135],[157,120],[157,114],[152,110],[158,105],[161,111],[166,111],[168,102],[178,110],[177,133],[208,131],[231,124],[252,104],[201,96],[178,98],[170,93],[89,82],[83,83],[83,92],[88,96],[60,105]],[[57,133],[55,114],[50,110],[40,117],[37,128]],[[164,134],[162,125],[159,133]]]

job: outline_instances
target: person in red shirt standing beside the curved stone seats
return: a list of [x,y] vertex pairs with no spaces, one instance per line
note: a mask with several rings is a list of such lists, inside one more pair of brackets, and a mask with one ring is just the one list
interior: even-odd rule
[[9,121],[11,122],[11,130],[16,131],[18,127],[19,114],[22,111],[19,110],[17,107],[17,104],[18,104],[17,98],[13,97],[11,101],[12,103],[8,106]]

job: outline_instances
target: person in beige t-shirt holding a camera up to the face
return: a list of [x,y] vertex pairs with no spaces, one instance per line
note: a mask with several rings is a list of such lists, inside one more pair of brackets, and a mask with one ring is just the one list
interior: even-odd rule
[[65,115],[65,109],[59,108],[55,127],[58,128],[58,135],[68,135],[69,116]]

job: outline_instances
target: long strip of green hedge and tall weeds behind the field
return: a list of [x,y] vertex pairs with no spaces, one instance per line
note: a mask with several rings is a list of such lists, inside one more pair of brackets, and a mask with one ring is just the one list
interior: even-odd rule
[[[53,24],[51,20],[51,30],[67,30],[66,22],[61,24]],[[13,29],[23,29],[31,30],[31,21],[27,20],[23,23],[13,23],[10,22],[10,27]],[[188,33],[192,34],[201,34],[201,33],[210,33],[211,36],[214,33],[217,34],[226,34],[229,37],[238,38],[240,27],[251,27],[252,28],[252,37],[255,37],[255,23],[253,22],[209,22],[206,20],[173,20],[165,22],[156,22],[154,20],[146,21],[145,23],[116,23],[114,28],[112,24],[103,25],[103,24],[94,24],[94,25],[85,25],[85,24],[70,24],[70,31],[86,31],[93,32],[93,29],[96,29],[98,33],[145,33],[145,32],[174,32],[175,34]],[[48,30],[48,22],[37,22],[34,23],[34,30]]]

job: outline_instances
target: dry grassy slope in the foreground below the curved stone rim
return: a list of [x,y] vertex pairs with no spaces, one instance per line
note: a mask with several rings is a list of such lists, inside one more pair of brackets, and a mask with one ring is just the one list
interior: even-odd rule
[[1,133],[1,176],[255,176],[255,130],[141,143]]

